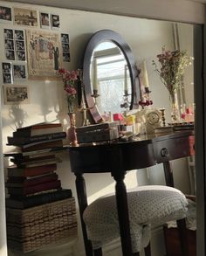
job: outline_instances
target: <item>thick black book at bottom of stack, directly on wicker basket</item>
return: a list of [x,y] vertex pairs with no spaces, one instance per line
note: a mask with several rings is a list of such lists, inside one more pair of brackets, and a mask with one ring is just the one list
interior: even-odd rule
[[5,204],[9,208],[26,209],[41,204],[48,204],[59,200],[72,197],[72,190],[58,190],[38,196],[6,198]]

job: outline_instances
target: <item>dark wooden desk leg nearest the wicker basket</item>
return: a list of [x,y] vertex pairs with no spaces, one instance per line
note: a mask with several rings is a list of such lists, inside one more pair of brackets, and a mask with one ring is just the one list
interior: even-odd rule
[[85,183],[84,176],[82,174],[75,173],[75,175],[76,175],[76,190],[77,190],[78,202],[79,202],[79,213],[80,213],[80,219],[81,219],[81,228],[82,228],[83,238],[85,243],[86,256],[93,256],[93,246],[91,241],[87,239],[86,225],[83,220],[83,212],[86,210],[86,206],[87,206],[86,183]]

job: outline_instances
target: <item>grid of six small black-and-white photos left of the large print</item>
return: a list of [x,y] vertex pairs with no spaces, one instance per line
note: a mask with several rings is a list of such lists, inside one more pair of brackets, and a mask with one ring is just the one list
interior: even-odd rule
[[25,61],[24,31],[4,29],[4,50],[6,59]]

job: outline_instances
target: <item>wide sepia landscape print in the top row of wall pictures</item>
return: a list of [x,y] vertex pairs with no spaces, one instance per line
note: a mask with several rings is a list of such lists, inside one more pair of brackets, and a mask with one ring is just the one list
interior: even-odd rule
[[37,27],[38,26],[37,10],[14,8],[14,24]]

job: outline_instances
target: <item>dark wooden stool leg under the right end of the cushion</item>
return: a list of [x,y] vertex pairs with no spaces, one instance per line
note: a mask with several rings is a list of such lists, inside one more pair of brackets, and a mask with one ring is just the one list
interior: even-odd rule
[[180,243],[181,243],[181,252],[182,256],[189,256],[189,244],[188,244],[188,236],[187,236],[187,228],[186,228],[186,222],[185,218],[178,219],[176,221],[179,237],[180,237]]

